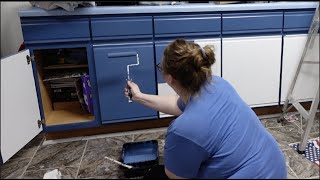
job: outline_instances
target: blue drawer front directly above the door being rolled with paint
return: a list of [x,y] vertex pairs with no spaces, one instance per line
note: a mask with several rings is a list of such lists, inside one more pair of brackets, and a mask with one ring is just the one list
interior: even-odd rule
[[91,29],[94,40],[152,37],[152,17],[92,18]]

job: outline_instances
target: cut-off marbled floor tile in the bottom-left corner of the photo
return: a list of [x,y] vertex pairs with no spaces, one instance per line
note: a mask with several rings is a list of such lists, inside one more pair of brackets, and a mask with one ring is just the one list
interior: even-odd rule
[[10,159],[0,166],[1,179],[18,179],[26,170],[31,158]]

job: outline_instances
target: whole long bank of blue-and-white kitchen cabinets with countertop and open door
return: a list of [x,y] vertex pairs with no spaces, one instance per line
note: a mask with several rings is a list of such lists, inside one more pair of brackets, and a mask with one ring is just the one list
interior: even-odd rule
[[[303,49],[306,37],[299,34],[308,30],[316,6],[316,3],[287,4],[270,3],[258,9],[197,5],[78,8],[74,12],[22,10],[19,15],[23,37],[30,57],[35,60],[26,63],[27,51],[17,55],[21,60],[15,56],[1,60],[3,160],[42,129],[69,131],[157,118],[156,111],[129,103],[124,97],[126,66],[135,63],[138,54],[140,65],[130,68],[133,81],[143,92],[174,95],[161,74],[155,72],[155,65],[161,61],[166,45],[178,37],[201,46],[213,44],[217,60],[212,66],[213,74],[228,80],[251,107],[277,105],[286,96]],[[298,36],[292,35],[295,33]],[[50,68],[43,65],[48,58],[41,58],[41,54],[73,48],[86,52],[87,63],[81,68],[90,75],[92,85],[90,116],[79,112],[75,103],[60,103],[57,109],[43,81]],[[315,57],[319,59],[319,55]],[[318,71],[306,66],[301,78]],[[19,76],[15,75],[17,72]],[[298,89],[297,94],[307,100],[316,85],[312,83],[314,80],[303,82],[310,88]],[[15,137],[14,132],[22,136]],[[12,141],[19,143],[11,145]]]

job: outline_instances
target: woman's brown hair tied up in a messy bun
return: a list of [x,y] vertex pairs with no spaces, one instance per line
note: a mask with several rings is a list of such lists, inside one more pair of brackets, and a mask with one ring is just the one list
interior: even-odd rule
[[211,65],[216,61],[212,48],[176,39],[164,50],[163,71],[194,95],[212,77]]

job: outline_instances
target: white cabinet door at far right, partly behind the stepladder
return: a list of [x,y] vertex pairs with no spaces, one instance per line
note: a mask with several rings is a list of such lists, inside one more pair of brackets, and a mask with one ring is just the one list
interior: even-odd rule
[[[307,34],[286,35],[283,38],[283,64],[281,76],[281,101],[283,104],[294,79],[307,41]],[[319,35],[307,52],[306,61],[319,62]],[[303,64],[293,91],[294,99],[311,101],[319,87],[319,64]]]

